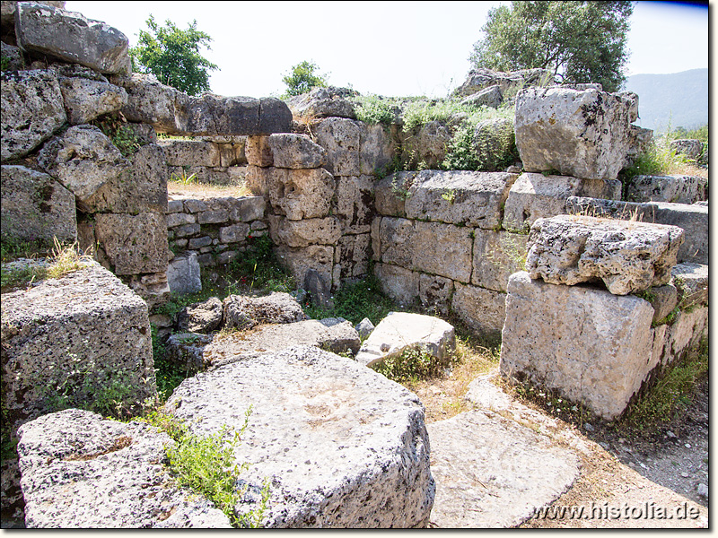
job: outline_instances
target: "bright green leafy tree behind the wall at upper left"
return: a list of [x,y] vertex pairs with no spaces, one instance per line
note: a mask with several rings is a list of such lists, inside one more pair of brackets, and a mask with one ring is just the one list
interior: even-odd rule
[[161,27],[150,15],[146,24],[150,31],[140,30],[139,45],[130,49],[133,70],[151,73],[189,95],[209,91],[209,71],[217,66],[199,54],[201,47],[210,49],[212,38],[197,30],[197,21],[180,30],[171,21]]

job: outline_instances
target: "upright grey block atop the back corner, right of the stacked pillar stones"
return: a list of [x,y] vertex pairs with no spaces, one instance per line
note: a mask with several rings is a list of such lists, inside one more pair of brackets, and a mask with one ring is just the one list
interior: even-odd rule
[[327,166],[335,176],[359,176],[362,174],[361,150],[362,128],[351,119],[329,117],[315,129],[317,143],[327,150]]

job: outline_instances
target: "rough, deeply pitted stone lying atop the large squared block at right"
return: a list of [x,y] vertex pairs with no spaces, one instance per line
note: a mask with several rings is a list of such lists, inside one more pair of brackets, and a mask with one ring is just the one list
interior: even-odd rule
[[558,215],[531,227],[526,270],[553,284],[600,280],[626,295],[670,282],[682,240],[675,226]]

